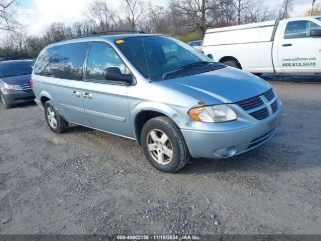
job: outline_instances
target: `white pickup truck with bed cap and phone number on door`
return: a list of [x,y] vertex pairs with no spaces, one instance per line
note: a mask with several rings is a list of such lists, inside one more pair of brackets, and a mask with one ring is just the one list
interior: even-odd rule
[[321,73],[321,16],[209,29],[206,55],[250,73]]

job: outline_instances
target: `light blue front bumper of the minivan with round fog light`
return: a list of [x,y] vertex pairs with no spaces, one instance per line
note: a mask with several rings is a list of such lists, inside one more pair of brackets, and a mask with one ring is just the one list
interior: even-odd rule
[[191,156],[228,158],[262,145],[275,134],[281,122],[282,105],[278,103],[278,110],[261,121],[244,113],[233,122],[205,124],[206,131],[181,129]]

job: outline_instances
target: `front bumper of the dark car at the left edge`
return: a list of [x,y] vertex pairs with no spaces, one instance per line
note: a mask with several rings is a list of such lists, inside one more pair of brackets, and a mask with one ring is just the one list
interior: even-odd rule
[[2,87],[1,92],[6,102],[10,105],[31,102],[35,99],[35,94],[33,91],[11,90]]

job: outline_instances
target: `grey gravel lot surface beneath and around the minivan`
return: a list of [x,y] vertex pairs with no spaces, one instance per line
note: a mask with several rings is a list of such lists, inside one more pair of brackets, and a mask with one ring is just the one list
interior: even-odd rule
[[0,233],[321,233],[321,79],[264,78],[284,105],[276,135],[176,174],[134,141],[56,135],[37,105],[0,105]]

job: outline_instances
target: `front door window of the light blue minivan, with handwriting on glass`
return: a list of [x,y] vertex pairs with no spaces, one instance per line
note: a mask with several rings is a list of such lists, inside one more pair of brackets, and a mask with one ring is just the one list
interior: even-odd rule
[[112,47],[104,43],[92,43],[87,60],[86,78],[106,81],[104,70],[109,67],[118,67],[121,73],[128,73],[126,66]]

